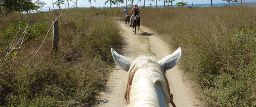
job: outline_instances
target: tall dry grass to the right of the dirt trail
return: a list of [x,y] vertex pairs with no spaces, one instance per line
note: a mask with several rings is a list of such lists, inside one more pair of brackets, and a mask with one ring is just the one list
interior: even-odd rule
[[182,47],[181,67],[209,107],[256,106],[256,8],[145,8],[141,25]]

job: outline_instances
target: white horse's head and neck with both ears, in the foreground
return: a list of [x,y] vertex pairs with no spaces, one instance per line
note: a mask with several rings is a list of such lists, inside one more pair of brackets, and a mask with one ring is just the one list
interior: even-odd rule
[[[122,70],[127,71],[126,86],[130,107],[168,107],[170,103],[166,70],[174,67],[181,56],[180,47],[173,54],[157,61],[152,56],[140,56],[134,61],[111,49],[112,56]],[[136,73],[133,73],[136,72]],[[133,74],[132,74],[133,73]],[[132,75],[132,76],[131,76]],[[131,79],[131,77],[133,77]],[[129,85],[129,81],[132,81]],[[126,92],[125,91],[125,92]]]

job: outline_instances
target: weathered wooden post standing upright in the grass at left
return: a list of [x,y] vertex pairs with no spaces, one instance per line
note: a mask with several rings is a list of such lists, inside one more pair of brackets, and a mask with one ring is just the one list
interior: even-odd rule
[[52,27],[52,39],[53,39],[53,52],[55,52],[55,54],[57,54],[58,52],[58,44],[59,44],[59,27],[58,27],[58,21],[54,20],[52,21],[54,23],[53,27]]

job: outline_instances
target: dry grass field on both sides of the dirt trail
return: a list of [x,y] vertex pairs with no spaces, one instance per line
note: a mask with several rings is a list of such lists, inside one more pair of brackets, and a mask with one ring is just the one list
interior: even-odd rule
[[[0,106],[91,106],[111,70],[110,48],[120,51],[122,37],[115,17],[122,10],[76,8],[64,26],[59,21],[59,54],[51,53],[51,33],[38,55],[55,16],[51,12],[8,15],[0,25],[0,51],[17,33],[17,25],[37,21],[25,49],[0,67]],[[129,9],[130,10],[130,9]],[[199,84],[209,107],[256,106],[256,8],[247,6],[143,8],[141,25],[162,35],[172,47],[182,48],[180,67]],[[67,16],[71,12],[67,13]],[[42,18],[39,18],[42,17]],[[69,17],[63,17],[68,20]],[[66,27],[66,32],[65,32]],[[10,33],[12,32],[12,33]],[[8,60],[13,59],[15,51]],[[0,59],[3,56],[0,56]],[[101,66],[101,67],[99,67]]]

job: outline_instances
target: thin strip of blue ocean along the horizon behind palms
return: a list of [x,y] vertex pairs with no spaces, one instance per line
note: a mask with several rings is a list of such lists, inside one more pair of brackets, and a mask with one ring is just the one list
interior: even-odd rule
[[[217,6],[217,7],[221,7],[221,6],[225,6],[225,5],[231,5],[231,6],[233,6],[233,5],[238,5],[238,6],[240,6],[240,3],[217,3],[217,4],[212,4],[213,6]],[[243,6],[256,6],[256,2],[246,2],[246,3],[242,3],[242,5]],[[168,7],[170,7],[171,5],[169,5]],[[177,7],[177,5],[173,5],[174,7]],[[191,6],[191,7],[211,7],[211,4],[193,4],[193,6],[192,6],[192,4],[188,4],[188,5],[186,5],[186,6]],[[141,7],[141,6],[139,6],[139,7]],[[145,6],[145,7],[149,7],[149,6]],[[151,7],[156,7],[155,5],[153,6],[151,6]],[[164,7],[164,5],[158,5],[157,7]],[[105,8],[105,7],[101,7],[101,8]],[[123,8],[123,7],[121,7],[121,8]],[[42,9],[42,11],[49,11],[49,9]]]

